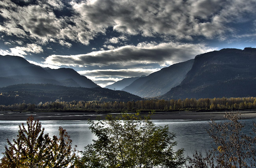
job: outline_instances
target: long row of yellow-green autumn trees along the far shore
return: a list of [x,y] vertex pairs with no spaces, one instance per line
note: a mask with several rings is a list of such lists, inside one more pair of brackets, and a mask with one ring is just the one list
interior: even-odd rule
[[46,103],[15,103],[0,105],[1,111],[214,111],[256,109],[256,97],[247,98],[202,98],[202,99],[148,99],[141,101],[56,101]]

